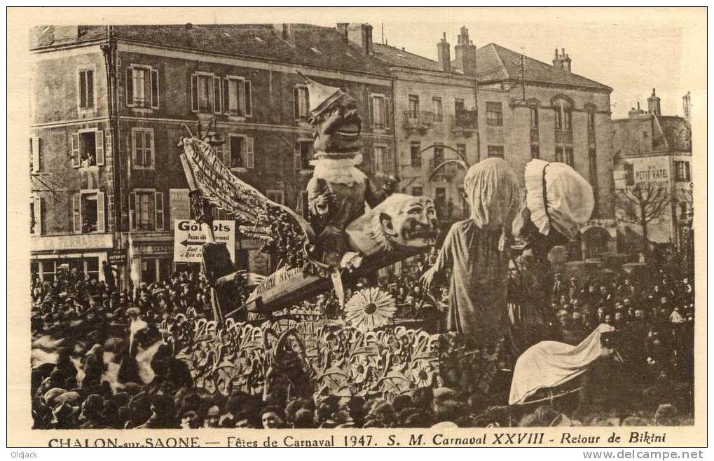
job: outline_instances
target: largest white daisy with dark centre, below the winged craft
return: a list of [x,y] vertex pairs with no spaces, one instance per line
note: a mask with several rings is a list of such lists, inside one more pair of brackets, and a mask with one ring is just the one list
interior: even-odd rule
[[379,288],[359,290],[345,304],[347,321],[363,332],[385,325],[396,311],[392,295]]

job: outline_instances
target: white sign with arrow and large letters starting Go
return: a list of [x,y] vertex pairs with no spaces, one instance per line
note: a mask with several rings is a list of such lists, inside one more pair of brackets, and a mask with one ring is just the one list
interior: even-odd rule
[[[231,261],[236,262],[236,221],[213,221],[213,238],[225,243]],[[206,233],[193,219],[174,221],[174,263],[200,263]]]

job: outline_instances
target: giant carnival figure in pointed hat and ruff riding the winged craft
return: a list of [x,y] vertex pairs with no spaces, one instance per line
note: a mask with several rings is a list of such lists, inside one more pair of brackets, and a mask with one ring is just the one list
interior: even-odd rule
[[307,193],[311,226],[321,248],[313,250],[323,263],[337,268],[348,253],[348,224],[364,214],[365,203],[373,208],[396,191],[398,181],[386,178],[377,190],[357,168],[362,163],[357,102],[340,88],[300,75],[308,86],[308,123],[315,140],[315,171]]

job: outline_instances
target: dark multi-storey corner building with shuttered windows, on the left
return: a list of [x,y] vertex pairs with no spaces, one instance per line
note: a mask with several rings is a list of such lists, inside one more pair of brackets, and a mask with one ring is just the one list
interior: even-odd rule
[[[396,152],[393,76],[371,56],[371,41],[371,26],[362,24],[35,29],[34,273],[49,280],[69,267],[101,279],[101,262],[119,253],[124,281],[169,275],[174,221],[189,218],[176,148],[184,124],[195,132],[199,122],[205,130],[216,121],[226,165],[301,212],[313,140],[296,70],[358,101],[362,167],[388,171]],[[270,262],[258,245],[238,235],[236,263],[265,272]]]

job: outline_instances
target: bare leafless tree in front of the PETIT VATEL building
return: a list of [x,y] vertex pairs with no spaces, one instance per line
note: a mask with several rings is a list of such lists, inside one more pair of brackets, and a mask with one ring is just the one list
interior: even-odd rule
[[620,189],[616,203],[620,221],[638,224],[642,228],[643,248],[647,254],[650,246],[649,224],[663,217],[670,205],[667,187],[658,183],[638,183],[634,187]]

